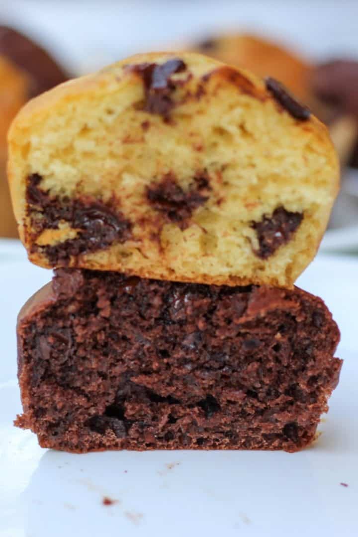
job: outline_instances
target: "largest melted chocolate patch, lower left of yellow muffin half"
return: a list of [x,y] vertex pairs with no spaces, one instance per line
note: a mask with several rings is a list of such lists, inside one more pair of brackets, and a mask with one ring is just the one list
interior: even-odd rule
[[125,242],[130,237],[131,223],[110,203],[84,197],[60,198],[39,188],[41,176],[34,173],[28,178],[26,200],[33,240],[45,229],[59,229],[60,222],[68,222],[78,230],[75,238],[54,245],[33,248],[45,252],[52,264],[66,265],[71,256],[106,248],[114,242]]

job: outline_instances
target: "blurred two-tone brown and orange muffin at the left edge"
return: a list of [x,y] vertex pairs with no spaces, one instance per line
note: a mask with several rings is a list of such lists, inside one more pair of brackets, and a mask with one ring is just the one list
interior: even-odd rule
[[65,70],[25,35],[0,26],[0,236],[17,237],[6,180],[6,135],[28,99],[68,79]]

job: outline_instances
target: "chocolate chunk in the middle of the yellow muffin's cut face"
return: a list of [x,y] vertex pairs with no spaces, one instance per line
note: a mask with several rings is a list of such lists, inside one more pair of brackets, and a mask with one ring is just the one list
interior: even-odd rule
[[185,221],[192,216],[193,211],[209,199],[209,190],[209,180],[205,174],[195,177],[185,192],[169,173],[162,182],[147,188],[147,198],[152,207],[164,213],[168,221],[177,222],[184,229],[187,226]]

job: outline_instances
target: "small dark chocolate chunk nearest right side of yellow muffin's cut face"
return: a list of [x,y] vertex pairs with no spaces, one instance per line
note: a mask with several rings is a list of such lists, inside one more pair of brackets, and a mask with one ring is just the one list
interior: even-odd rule
[[255,254],[261,259],[272,256],[277,248],[290,240],[302,220],[302,213],[290,213],[284,207],[277,207],[271,216],[264,216],[261,222],[252,222],[260,246]]

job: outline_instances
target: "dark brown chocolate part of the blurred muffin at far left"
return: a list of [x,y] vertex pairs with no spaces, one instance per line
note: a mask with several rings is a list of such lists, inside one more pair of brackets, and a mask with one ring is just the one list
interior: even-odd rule
[[46,50],[8,26],[0,26],[0,54],[7,56],[30,76],[29,97],[68,79],[68,74]]

